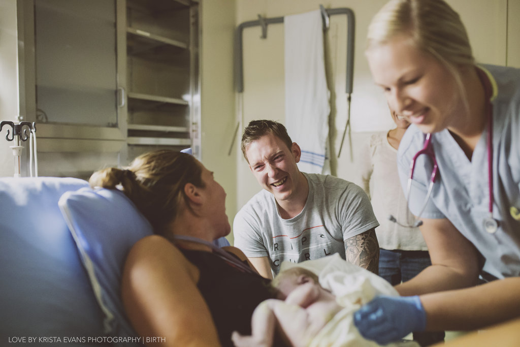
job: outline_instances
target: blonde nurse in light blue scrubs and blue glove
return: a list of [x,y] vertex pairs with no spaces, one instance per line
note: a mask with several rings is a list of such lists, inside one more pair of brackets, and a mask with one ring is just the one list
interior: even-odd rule
[[384,344],[519,317],[520,70],[478,65],[443,0],[388,2],[366,56],[388,104],[412,123],[398,170],[432,266],[396,286],[401,298],[356,312],[361,335]]

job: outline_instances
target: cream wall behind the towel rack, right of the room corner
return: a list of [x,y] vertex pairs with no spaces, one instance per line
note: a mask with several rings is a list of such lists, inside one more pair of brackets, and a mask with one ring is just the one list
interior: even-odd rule
[[[337,158],[347,114],[345,16],[337,15],[330,18],[330,29],[326,35],[326,60],[333,95],[330,123],[331,148],[335,156],[332,158],[332,173],[358,184],[359,148],[372,132],[386,131],[393,127],[382,91],[374,85],[363,54],[369,21],[385,3],[386,0],[237,0],[237,25],[244,21],[256,20],[257,15],[272,18],[298,14],[318,9],[320,4],[325,8],[348,7],[354,11],[354,87],[350,111],[353,130],[352,158],[348,136],[345,138],[341,157]],[[520,30],[517,24],[520,0],[448,0],[448,3],[461,15],[478,62],[520,66]],[[260,38],[260,35],[259,27],[245,29],[243,33],[244,106],[241,125],[260,118],[282,122],[284,120],[283,24],[268,25],[265,40]],[[237,147],[238,143],[239,139]],[[240,208],[260,187],[249,172],[241,154],[237,154],[237,165],[237,204]]]

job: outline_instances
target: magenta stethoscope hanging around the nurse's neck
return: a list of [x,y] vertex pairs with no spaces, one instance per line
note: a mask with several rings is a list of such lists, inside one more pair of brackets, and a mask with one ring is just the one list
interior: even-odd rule
[[[487,121],[488,121],[488,132],[487,132],[487,159],[488,159],[488,190],[489,190],[489,205],[488,205],[488,216],[484,218],[483,220],[483,226],[484,230],[486,232],[493,234],[498,230],[498,221],[493,218],[493,111],[491,106],[491,84],[488,79],[485,78],[485,73],[477,69],[478,75],[480,80],[483,82],[484,85],[484,92],[486,97],[486,114],[487,114]],[[393,215],[388,216],[388,220],[402,226],[402,227],[408,227],[408,228],[417,228],[423,224],[421,221],[421,215],[424,212],[424,209],[426,208],[426,205],[428,204],[428,201],[430,200],[430,197],[432,195],[433,185],[435,184],[437,178],[439,177],[439,169],[437,165],[437,160],[435,159],[435,152],[433,150],[433,143],[432,143],[432,134],[427,133],[424,136],[424,144],[423,148],[415,153],[415,155],[412,158],[412,161],[410,162],[410,173],[408,175],[408,183],[406,188],[406,201],[410,201],[410,191],[412,187],[412,180],[413,180],[413,173],[415,171],[415,162],[417,162],[417,158],[421,155],[426,155],[430,160],[432,160],[433,168],[432,168],[432,175],[430,176],[430,185],[428,185],[428,190],[426,192],[426,197],[424,198],[423,205],[421,207],[421,210],[419,214],[415,217],[415,220],[413,224],[401,224],[397,221],[397,219]]]

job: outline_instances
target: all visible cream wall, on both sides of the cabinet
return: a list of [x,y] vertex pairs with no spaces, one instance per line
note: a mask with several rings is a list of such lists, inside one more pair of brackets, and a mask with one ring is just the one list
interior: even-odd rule
[[[478,61],[520,67],[520,0],[448,0],[462,16]],[[357,149],[373,131],[392,126],[382,93],[375,87],[363,56],[370,18],[385,0],[201,0],[201,112],[202,162],[228,193],[230,221],[260,187],[239,149],[244,123],[270,118],[283,121],[283,24],[272,24],[267,39],[259,27],[244,30],[243,116],[233,86],[233,33],[238,24],[317,9],[349,7],[356,16],[354,92],[352,95],[352,141]],[[0,0],[0,120],[15,120],[17,114],[16,0]],[[337,150],[346,120],[345,56],[346,18],[332,16],[327,34],[328,73],[333,86],[331,114],[333,150]],[[228,156],[237,121],[240,128]],[[13,157],[5,130],[0,134],[0,176],[12,176]],[[333,161],[337,176],[358,182],[357,152],[351,160],[348,139],[341,157]]]

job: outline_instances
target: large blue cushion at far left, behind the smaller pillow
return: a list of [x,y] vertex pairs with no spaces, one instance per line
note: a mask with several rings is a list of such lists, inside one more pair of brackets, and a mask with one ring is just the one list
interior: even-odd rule
[[[0,178],[0,345],[13,337],[103,335],[103,315],[58,208],[64,192],[86,186],[77,178]],[[40,342],[31,345],[49,344]]]

